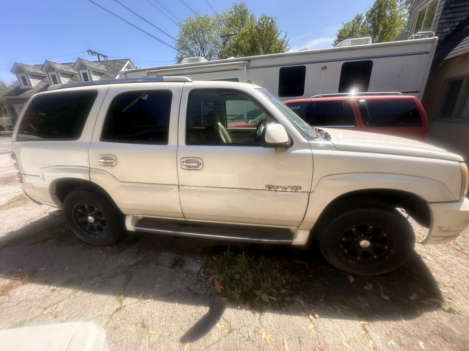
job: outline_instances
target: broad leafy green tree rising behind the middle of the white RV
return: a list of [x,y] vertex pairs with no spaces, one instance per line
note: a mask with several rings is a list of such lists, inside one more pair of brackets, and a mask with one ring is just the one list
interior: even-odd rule
[[288,39],[281,33],[275,17],[262,14],[256,18],[245,3],[235,3],[222,13],[196,15],[180,23],[175,61],[191,56],[216,60],[285,52]]

